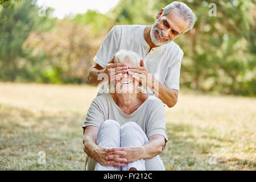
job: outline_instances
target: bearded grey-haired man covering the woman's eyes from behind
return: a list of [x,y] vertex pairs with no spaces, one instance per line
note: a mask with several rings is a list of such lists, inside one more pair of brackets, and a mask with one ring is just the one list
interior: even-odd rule
[[[146,82],[146,86],[150,88],[147,89],[148,94],[157,93],[164,104],[168,107],[174,106],[179,90],[183,51],[173,40],[191,30],[194,23],[195,14],[185,3],[172,2],[160,10],[152,26],[113,27],[94,57],[96,64],[89,70],[88,82],[100,84],[102,80],[98,76],[106,73],[110,78],[112,68],[115,75],[128,73]],[[113,56],[119,49],[134,51],[142,56],[140,66],[114,64]]]

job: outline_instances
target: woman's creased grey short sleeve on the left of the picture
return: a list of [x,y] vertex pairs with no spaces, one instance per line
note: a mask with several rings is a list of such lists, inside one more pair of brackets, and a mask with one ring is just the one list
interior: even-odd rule
[[104,122],[104,114],[94,99],[87,111],[85,122],[84,125],[82,125],[82,128],[85,130],[86,126],[100,127],[102,122]]

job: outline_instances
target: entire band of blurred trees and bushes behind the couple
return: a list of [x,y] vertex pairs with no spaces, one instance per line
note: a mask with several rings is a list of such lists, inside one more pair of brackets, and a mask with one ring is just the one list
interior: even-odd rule
[[[167,0],[120,0],[106,14],[88,10],[64,19],[40,15],[32,1],[1,0],[0,81],[87,83],[93,57],[116,24],[153,24]],[[256,9],[253,0],[186,0],[193,29],[175,42],[184,51],[182,88],[255,96]],[[216,3],[217,16],[209,16]],[[42,14],[42,12],[41,12]]]

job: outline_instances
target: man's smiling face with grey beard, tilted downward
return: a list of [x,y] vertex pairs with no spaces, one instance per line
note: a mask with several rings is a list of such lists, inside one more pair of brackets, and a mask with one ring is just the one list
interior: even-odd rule
[[171,10],[167,15],[162,15],[162,10],[156,16],[150,37],[155,46],[162,46],[177,38],[188,27],[188,22],[184,20],[177,10]]

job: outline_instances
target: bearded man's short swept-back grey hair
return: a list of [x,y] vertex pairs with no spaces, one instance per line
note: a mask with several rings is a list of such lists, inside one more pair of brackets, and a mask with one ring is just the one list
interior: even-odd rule
[[164,7],[163,15],[167,15],[168,13],[170,13],[171,10],[174,9],[176,9],[181,17],[188,22],[188,28],[184,32],[182,32],[182,34],[191,30],[196,21],[196,15],[192,12],[192,10],[183,2],[174,1]]

